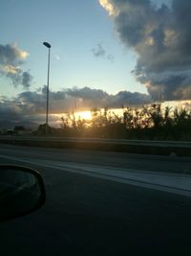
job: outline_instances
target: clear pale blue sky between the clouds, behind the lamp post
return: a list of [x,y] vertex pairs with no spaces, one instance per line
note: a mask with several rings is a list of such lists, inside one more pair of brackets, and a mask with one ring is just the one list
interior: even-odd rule
[[[2,45],[15,44],[29,53],[22,67],[33,77],[31,90],[46,84],[47,49],[43,41],[52,44],[53,91],[74,86],[109,93],[137,90],[130,74],[135,54],[124,49],[96,0],[1,0],[0,28]],[[12,88],[10,83],[1,78],[5,92],[15,95],[23,91],[22,86]],[[145,91],[141,85],[138,90]]]

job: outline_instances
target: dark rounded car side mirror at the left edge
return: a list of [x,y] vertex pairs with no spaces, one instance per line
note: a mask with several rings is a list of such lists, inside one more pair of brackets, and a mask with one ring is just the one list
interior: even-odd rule
[[41,175],[23,166],[0,165],[0,221],[21,217],[46,200]]

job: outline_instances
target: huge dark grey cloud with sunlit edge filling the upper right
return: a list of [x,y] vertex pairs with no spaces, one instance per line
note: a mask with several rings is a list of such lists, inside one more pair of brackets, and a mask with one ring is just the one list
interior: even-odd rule
[[154,100],[191,99],[191,2],[99,0],[138,55],[134,74]]

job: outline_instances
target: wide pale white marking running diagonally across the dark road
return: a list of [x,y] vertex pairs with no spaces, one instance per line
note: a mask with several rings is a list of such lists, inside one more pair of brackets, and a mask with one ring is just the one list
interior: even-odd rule
[[[81,163],[60,162],[49,160],[30,160],[0,154],[0,157],[47,168],[57,171],[71,172],[80,175],[89,175],[119,183],[151,188],[159,191],[191,197],[191,175],[162,174],[134,169],[110,168]],[[51,185],[51,184],[47,184]]]

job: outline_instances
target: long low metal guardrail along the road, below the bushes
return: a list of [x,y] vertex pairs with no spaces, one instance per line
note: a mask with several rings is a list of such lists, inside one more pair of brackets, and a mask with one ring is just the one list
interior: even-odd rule
[[0,136],[0,143],[49,148],[73,148],[97,151],[126,151],[191,156],[191,141],[152,141],[103,138],[62,138]]

